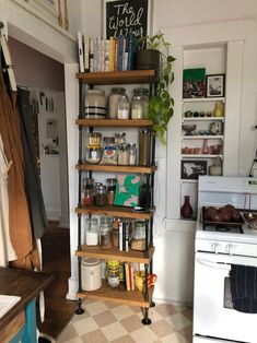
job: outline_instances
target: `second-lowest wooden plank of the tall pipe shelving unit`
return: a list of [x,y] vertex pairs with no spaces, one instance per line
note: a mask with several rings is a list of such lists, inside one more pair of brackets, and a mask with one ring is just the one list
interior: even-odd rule
[[120,251],[118,249],[101,249],[98,246],[89,247],[82,246],[82,250],[77,250],[75,256],[94,257],[102,260],[118,260],[120,262],[136,262],[149,264],[154,253],[154,248],[149,248],[149,257],[144,256],[143,251]]

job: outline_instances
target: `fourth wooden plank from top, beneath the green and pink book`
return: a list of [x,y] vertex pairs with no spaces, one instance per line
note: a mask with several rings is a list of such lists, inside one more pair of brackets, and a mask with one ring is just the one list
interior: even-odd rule
[[133,212],[132,208],[126,206],[87,206],[87,208],[77,208],[75,213],[80,214],[100,214],[100,215],[110,215],[118,216],[122,218],[140,218],[150,220],[154,214],[154,209],[152,208],[150,212]]

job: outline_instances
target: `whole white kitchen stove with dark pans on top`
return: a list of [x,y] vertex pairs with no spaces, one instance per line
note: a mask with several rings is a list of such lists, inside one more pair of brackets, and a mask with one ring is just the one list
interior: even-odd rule
[[[257,268],[257,232],[242,225],[208,225],[202,209],[232,204],[257,211],[257,179],[199,177],[195,239],[194,343],[257,343],[257,314],[235,310],[232,265]],[[256,291],[257,292],[257,291]]]

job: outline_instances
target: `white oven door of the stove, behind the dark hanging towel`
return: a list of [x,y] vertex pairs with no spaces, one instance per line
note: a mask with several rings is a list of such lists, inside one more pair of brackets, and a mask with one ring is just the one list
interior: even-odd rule
[[[232,308],[229,279],[232,263],[257,267],[257,258],[196,252],[194,343],[212,342],[211,338],[217,342],[219,339],[257,342],[257,314]],[[200,335],[200,341],[196,335]]]

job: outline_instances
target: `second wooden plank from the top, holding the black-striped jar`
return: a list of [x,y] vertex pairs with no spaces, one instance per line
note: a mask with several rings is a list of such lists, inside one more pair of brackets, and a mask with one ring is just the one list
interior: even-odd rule
[[110,127],[110,128],[145,128],[153,125],[147,119],[77,119],[77,125],[84,127]]

